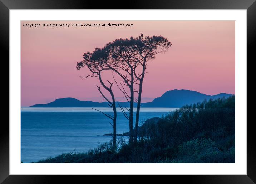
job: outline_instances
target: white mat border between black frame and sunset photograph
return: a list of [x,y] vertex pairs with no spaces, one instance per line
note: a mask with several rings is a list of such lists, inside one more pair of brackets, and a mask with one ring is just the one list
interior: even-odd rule
[[[236,163],[20,164],[20,20],[235,20]],[[9,116],[10,175],[247,175],[247,10],[10,10]]]

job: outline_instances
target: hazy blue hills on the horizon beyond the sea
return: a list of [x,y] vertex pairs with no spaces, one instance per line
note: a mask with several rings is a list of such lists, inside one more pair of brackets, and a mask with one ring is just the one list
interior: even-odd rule
[[[186,104],[202,102],[204,99],[227,98],[232,94],[220,93],[216,95],[202,94],[191,90],[170,90],[161,97],[153,99],[152,102],[142,103],[141,107],[182,107]],[[122,107],[129,107],[128,102],[116,102]],[[137,106],[136,103],[134,103]],[[108,102],[80,101],[75,98],[59,98],[46,104],[35,104],[30,107],[109,107]]]

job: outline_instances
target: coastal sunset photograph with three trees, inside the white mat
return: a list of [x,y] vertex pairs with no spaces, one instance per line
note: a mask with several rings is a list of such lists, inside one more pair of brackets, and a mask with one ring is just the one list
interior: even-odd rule
[[20,163],[236,163],[235,20],[21,20]]

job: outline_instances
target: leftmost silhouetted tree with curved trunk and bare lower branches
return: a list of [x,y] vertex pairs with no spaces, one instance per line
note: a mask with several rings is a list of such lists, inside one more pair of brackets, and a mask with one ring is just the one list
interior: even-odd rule
[[[104,65],[102,65],[102,63],[107,63],[107,57],[108,53],[106,53],[104,50],[101,50],[99,48],[95,48],[95,51],[93,53],[87,52],[84,53],[83,58],[84,60],[77,63],[77,70],[80,70],[80,68],[87,66],[89,68],[89,70],[92,72],[91,75],[87,75],[86,77],[82,77],[82,78],[87,78],[87,77],[97,77],[100,81],[100,84],[105,88],[105,90],[107,90],[110,93],[110,96],[112,98],[112,101],[110,101],[101,91],[100,87],[97,86],[100,94],[104,97],[104,99],[109,103],[109,106],[113,109],[114,112],[114,116],[110,115],[110,114],[105,114],[102,111],[99,111],[98,109],[95,109],[96,111],[99,111],[101,113],[103,113],[105,116],[107,116],[108,118],[112,119],[113,124],[111,124],[111,126],[113,127],[113,152],[115,152],[116,150],[116,142],[117,142],[117,109],[116,109],[116,104],[115,104],[115,97],[114,97],[114,93],[112,90],[112,86],[113,83],[111,83],[109,80],[107,80],[107,82],[109,83],[110,87],[108,87],[107,85],[105,85],[105,83],[102,80],[102,72],[105,70],[109,70],[108,67],[104,67]],[[93,108],[94,109],[94,108]]]

